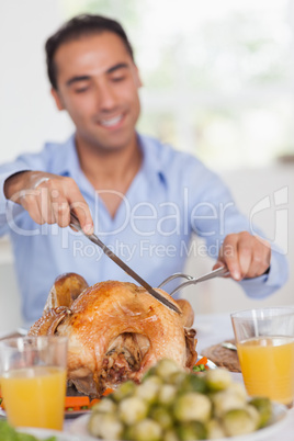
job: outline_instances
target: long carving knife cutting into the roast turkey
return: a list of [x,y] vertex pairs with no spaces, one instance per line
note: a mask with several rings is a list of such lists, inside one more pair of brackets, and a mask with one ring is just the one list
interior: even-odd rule
[[180,314],[180,309],[171,303],[168,298],[166,298],[163,295],[158,293],[152,289],[149,283],[147,283],[139,274],[137,274],[134,270],[132,270],[131,267],[128,267],[118,256],[116,256],[105,244],[102,242],[102,240],[99,239],[97,235],[86,235],[86,233],[82,230],[79,219],[76,216],[75,213],[70,212],[70,225],[81,231],[91,242],[98,245],[102,251],[111,259],[113,260],[114,263],[116,263],[120,268],[122,268],[123,271],[125,271],[128,275],[131,275],[132,279],[134,279],[136,282],[138,282],[143,287],[145,287],[146,291],[150,295],[152,295],[158,302],[162,303],[165,306],[168,308],[174,310],[176,313]]

